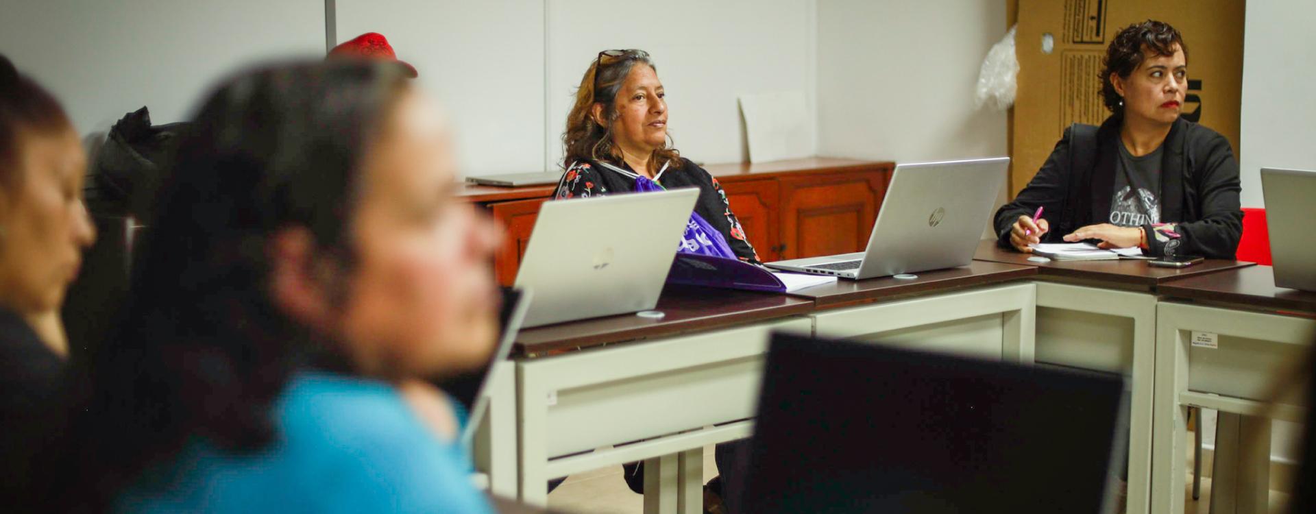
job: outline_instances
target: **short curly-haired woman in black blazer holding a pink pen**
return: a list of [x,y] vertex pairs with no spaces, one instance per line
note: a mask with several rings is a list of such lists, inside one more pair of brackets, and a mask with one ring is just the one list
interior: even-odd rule
[[[996,212],[1000,246],[1029,252],[1040,242],[1098,239],[1155,256],[1232,259],[1242,235],[1238,162],[1223,135],[1179,117],[1183,37],[1161,21],[1124,28],[1100,80],[1111,117],[1065,130],[1028,187]],[[1033,220],[1038,208],[1045,218]]]

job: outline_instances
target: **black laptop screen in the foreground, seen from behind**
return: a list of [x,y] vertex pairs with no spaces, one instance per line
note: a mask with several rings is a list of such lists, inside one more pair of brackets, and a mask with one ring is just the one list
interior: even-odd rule
[[774,334],[740,510],[1113,513],[1123,389],[1116,375]]

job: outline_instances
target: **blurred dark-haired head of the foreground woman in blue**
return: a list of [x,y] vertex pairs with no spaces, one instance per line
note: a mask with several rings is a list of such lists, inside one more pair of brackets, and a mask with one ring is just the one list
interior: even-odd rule
[[[397,383],[482,363],[496,237],[451,197],[454,166],[437,105],[396,66],[224,83],[161,189],[126,329],[78,392],[78,426],[107,443],[74,459],[130,477],[188,440],[261,448],[304,367]],[[92,480],[107,498],[129,479]]]

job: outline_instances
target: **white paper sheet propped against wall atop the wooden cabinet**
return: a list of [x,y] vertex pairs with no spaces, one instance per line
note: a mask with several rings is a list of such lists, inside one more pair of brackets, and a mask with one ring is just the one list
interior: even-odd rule
[[749,162],[799,159],[813,155],[804,113],[804,93],[787,91],[740,96],[749,139]]

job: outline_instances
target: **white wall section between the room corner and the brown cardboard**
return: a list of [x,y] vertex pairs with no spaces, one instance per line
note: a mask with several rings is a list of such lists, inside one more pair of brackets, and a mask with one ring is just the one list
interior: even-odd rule
[[819,154],[896,162],[1007,155],[1005,113],[975,110],[1005,35],[1001,0],[819,3]]

